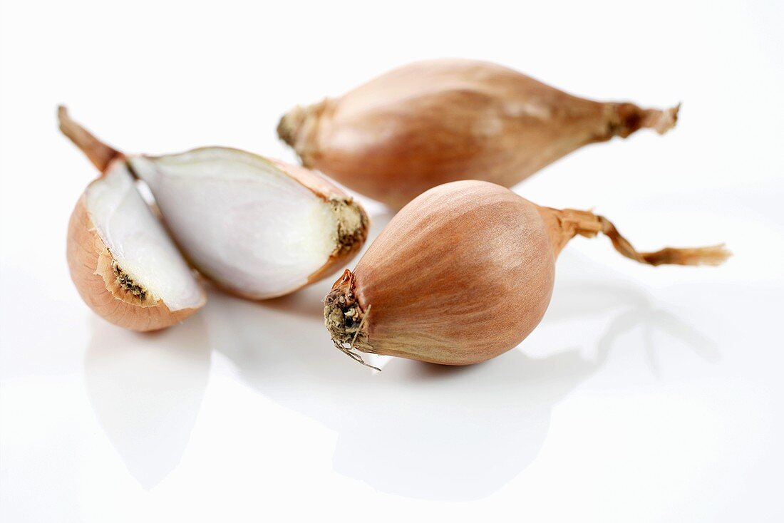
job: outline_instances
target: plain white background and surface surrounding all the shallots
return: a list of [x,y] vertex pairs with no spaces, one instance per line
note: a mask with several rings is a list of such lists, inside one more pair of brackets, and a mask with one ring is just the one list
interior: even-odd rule
[[[780,2],[3,2],[2,521],[784,521]],[[581,96],[683,101],[516,190],[595,207],[641,267],[575,239],[521,347],[445,369],[334,350],[332,281],[217,292],[154,335],[96,318],[65,234],[92,166],[65,103],[125,151],[293,159],[293,104],[412,60],[492,60]],[[377,234],[389,220],[368,203]]]

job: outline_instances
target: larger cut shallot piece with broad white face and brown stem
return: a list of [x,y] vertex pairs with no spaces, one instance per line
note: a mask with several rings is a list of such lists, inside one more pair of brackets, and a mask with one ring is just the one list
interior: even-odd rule
[[238,296],[283,296],[334,273],[365,242],[368,216],[324,177],[227,147],[126,155],[60,107],[60,129],[101,172],[117,166],[150,187],[185,258]]

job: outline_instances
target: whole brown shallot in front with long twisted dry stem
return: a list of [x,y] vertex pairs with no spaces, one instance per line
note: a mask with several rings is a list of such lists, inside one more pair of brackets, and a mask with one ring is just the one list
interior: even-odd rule
[[406,205],[325,298],[340,350],[467,365],[516,347],[541,321],[558,252],[606,234],[623,256],[718,264],[722,246],[637,252],[603,216],[550,209],[481,181],[446,183]]

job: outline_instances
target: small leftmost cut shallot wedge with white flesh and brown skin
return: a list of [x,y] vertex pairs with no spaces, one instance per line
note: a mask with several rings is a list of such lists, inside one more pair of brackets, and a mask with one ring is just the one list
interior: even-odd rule
[[71,279],[100,317],[137,331],[163,329],[205,303],[191,268],[114,161],[79,198],[68,224]]

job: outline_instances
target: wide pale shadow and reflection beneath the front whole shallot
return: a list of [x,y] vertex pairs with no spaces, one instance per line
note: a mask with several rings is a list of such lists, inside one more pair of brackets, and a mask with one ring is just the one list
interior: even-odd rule
[[589,358],[553,347],[546,358],[512,350],[470,367],[395,359],[372,373],[332,350],[318,306],[323,294],[318,286],[254,304],[213,293],[204,311],[213,347],[256,390],[336,430],[339,473],[402,496],[466,500],[498,490],[539,453],[554,405],[597,372],[611,349],[633,348],[615,343],[630,329],[666,332],[717,357],[715,343],[652,308],[633,287],[575,285],[561,289],[557,302],[592,307],[554,303],[547,321],[619,307]]

